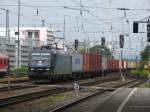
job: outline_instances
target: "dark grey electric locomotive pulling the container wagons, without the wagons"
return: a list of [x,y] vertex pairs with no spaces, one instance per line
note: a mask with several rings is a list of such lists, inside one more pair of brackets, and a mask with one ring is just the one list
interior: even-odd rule
[[52,46],[34,48],[29,56],[29,78],[60,80],[71,77],[71,56]]

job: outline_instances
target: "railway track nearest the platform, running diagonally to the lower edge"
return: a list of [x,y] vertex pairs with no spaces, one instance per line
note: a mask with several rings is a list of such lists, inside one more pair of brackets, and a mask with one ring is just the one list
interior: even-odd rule
[[[116,85],[114,88],[117,89],[119,87],[136,87],[137,85],[140,85],[140,84],[142,84],[144,82],[145,82],[144,80],[141,80],[141,81],[133,80],[133,81],[127,82],[125,84]],[[112,91],[115,90],[115,89],[112,89]],[[110,91],[110,90],[111,89],[103,89],[103,90],[100,90],[100,91],[96,91],[96,92],[94,92],[94,93],[92,93],[92,94],[90,94],[88,96],[82,97],[80,99],[77,99],[77,100],[74,100],[72,102],[69,102],[69,103],[67,103],[65,105],[59,106],[59,107],[57,107],[57,108],[55,108],[53,110],[50,110],[49,112],[60,112],[60,111],[67,110],[68,108],[70,108],[70,107],[72,107],[72,106],[74,106],[76,104],[79,104],[81,102],[84,102],[84,101],[88,100],[91,97],[94,97],[94,96],[96,96],[98,94],[103,94],[103,93],[105,93],[107,91]]]

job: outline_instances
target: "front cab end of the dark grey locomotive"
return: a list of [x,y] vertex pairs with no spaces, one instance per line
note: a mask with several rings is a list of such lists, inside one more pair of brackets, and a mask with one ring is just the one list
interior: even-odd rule
[[29,78],[31,79],[40,79],[49,78],[52,71],[51,64],[51,50],[48,49],[35,49],[30,53],[29,59]]

